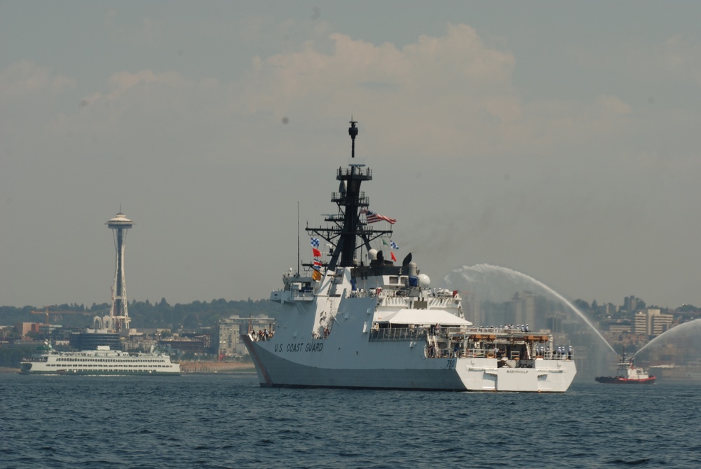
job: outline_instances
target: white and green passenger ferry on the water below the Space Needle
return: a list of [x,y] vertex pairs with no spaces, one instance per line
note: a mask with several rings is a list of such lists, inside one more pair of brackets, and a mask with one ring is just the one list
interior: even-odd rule
[[180,374],[180,364],[165,353],[128,353],[97,346],[97,350],[56,351],[42,347],[29,360],[20,363],[22,374]]

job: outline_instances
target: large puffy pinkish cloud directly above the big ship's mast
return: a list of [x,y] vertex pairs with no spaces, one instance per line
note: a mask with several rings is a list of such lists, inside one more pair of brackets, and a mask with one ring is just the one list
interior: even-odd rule
[[521,115],[512,86],[515,58],[487,47],[471,27],[449,25],[445,36],[421,36],[401,49],[329,37],[328,53],[309,41],[301,50],[256,57],[245,84],[247,110],[324,119],[355,109],[365,125],[381,123],[397,154],[418,144],[423,155],[438,156],[440,149],[449,157],[454,150],[441,142],[490,129],[496,138],[498,125]]

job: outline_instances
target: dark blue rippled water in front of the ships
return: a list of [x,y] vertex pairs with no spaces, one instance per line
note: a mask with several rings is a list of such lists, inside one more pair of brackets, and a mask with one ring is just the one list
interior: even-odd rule
[[663,383],[537,395],[0,374],[0,468],[699,468],[700,396]]

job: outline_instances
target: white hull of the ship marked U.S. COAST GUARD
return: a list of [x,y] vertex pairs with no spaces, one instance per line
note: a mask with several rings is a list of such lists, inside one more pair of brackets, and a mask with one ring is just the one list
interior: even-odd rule
[[[346,274],[329,276],[326,285],[342,287],[350,275],[348,269]],[[322,281],[321,291],[325,282]],[[346,285],[344,290],[350,287]],[[506,356],[500,360],[490,353],[507,342],[520,341],[519,355],[526,355],[530,351],[526,349],[535,348],[535,339],[545,339],[541,336],[447,325],[443,333],[432,337],[426,323],[433,324],[438,320],[434,318],[444,321],[447,318],[440,315],[444,310],[434,308],[449,309],[451,304],[459,304],[457,296],[426,299],[426,309],[412,311],[431,319],[423,321],[424,324],[412,324],[410,328],[400,324],[383,330],[372,329],[372,325],[401,306],[415,305],[416,299],[396,297],[387,288],[366,297],[340,296],[317,294],[312,299],[304,294],[285,297],[273,292],[273,299],[280,298],[287,306],[273,337],[261,341],[253,334],[242,337],[256,365],[261,386],[563,393],[576,374],[573,360],[564,356],[554,359],[552,353],[548,359],[536,358],[533,353],[530,360],[525,356],[524,360]],[[332,329],[327,337],[313,332],[318,329],[315,320],[318,322],[322,316],[318,311],[333,313]],[[454,317],[454,321],[460,319]],[[464,337],[458,351],[454,351],[457,341],[445,346],[458,334]],[[475,348],[470,337],[478,336],[484,339]],[[431,356],[428,343],[433,339],[443,344],[440,347],[443,352]],[[513,348],[511,355],[515,351]]]

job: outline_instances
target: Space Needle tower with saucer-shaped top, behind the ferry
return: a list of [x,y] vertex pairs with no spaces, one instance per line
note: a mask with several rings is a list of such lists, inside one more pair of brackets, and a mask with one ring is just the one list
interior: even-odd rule
[[114,285],[112,285],[112,308],[109,311],[112,327],[121,334],[129,333],[129,313],[127,311],[127,285],[124,280],[124,248],[127,230],[134,222],[119,211],[116,217],[106,225],[113,230],[114,249],[116,250],[116,266],[114,269]]

